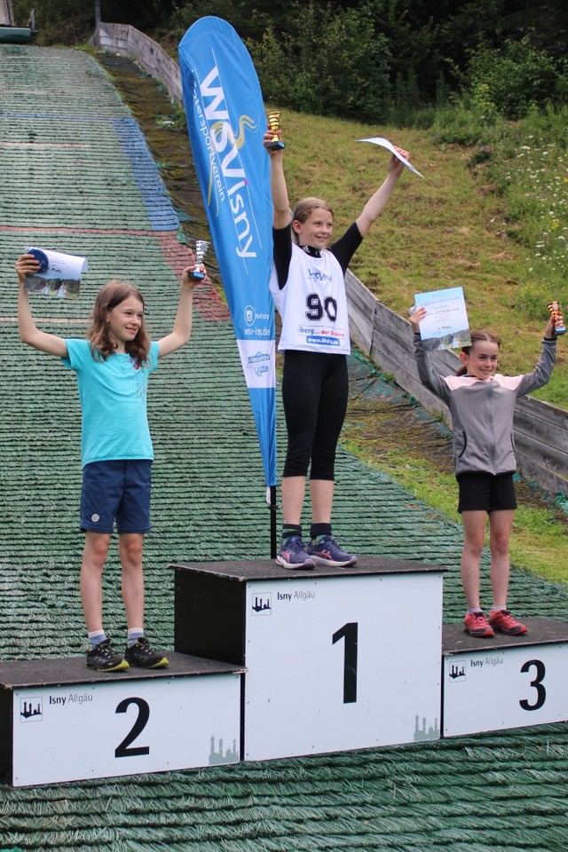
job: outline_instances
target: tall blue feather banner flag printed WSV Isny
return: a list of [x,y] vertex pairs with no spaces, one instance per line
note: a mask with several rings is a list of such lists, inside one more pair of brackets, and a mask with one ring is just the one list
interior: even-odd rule
[[179,44],[193,160],[241,354],[264,464],[276,485],[274,306],[266,116],[248,51],[221,18],[201,18]]

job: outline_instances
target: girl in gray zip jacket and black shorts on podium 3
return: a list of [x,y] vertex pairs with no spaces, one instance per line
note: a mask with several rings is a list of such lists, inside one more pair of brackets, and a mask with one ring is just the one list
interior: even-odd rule
[[[438,375],[430,365],[420,336],[426,310],[411,317],[418,375],[425,387],[443,399],[452,414],[454,469],[460,489],[458,511],[463,525],[461,582],[468,611],[466,633],[477,637],[527,632],[507,609],[509,589],[509,538],[517,500],[513,474],[517,467],[513,443],[513,414],[518,397],[548,383],[556,358],[554,319],[542,341],[539,363],[533,373],[497,373],[500,339],[485,331],[471,332],[471,345],[460,352],[463,367],[457,375]],[[493,606],[485,617],[479,602],[479,569],[489,517]]]

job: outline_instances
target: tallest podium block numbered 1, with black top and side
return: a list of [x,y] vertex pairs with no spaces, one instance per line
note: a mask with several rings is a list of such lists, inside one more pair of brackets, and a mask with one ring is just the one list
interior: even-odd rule
[[444,568],[375,556],[174,567],[176,651],[247,669],[243,758],[439,737]]

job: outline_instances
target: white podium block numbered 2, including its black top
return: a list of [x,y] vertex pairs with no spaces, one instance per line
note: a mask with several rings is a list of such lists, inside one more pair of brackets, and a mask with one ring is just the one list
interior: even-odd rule
[[170,654],[101,674],[84,658],[0,663],[0,777],[14,786],[240,760],[242,667]]

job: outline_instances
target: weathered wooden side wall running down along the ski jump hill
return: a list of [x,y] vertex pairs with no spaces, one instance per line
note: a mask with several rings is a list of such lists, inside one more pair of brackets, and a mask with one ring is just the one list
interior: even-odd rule
[[[183,106],[179,67],[152,39],[126,24],[101,23],[92,38],[99,47],[126,53],[149,75],[159,80],[170,98]],[[347,272],[351,337],[359,349],[429,411],[444,415],[451,426],[446,405],[418,380],[414,364],[412,327],[392,312],[356,278]],[[460,360],[453,352],[431,356],[440,373],[455,372]],[[526,479],[551,493],[568,493],[568,414],[538,399],[525,397],[517,403],[515,444],[518,468]]]

